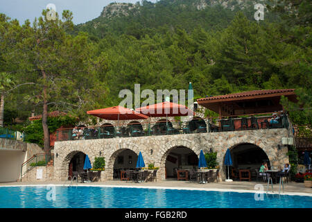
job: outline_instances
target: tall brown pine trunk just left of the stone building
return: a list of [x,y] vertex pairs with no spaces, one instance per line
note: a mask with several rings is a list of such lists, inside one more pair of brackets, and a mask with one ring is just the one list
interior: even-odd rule
[[[46,73],[42,71],[42,77],[46,80]],[[44,105],[43,105],[43,112],[42,112],[42,128],[44,131],[44,154],[46,155],[46,162],[51,160],[51,150],[50,150],[50,133],[48,128],[48,100],[46,94],[46,83],[44,83],[43,88],[43,98],[44,98]]]

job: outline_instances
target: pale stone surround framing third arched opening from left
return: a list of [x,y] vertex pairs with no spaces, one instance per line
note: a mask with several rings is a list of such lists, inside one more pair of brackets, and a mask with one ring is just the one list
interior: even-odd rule
[[155,157],[155,167],[159,167],[159,170],[157,171],[157,180],[165,180],[166,176],[166,159],[168,157],[168,154],[171,152],[173,148],[184,146],[186,148],[189,148],[191,151],[196,153],[196,155],[200,155],[200,147],[199,144],[196,144],[196,142],[191,141],[189,139],[175,139],[171,140],[168,143],[164,144],[162,146],[156,157]]

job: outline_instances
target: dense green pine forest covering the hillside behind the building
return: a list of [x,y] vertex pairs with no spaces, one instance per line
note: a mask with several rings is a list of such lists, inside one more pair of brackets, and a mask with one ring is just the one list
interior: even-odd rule
[[[5,121],[12,123],[14,111],[18,117],[29,116],[33,109],[42,112],[42,85],[48,87],[49,108],[94,124],[96,119],[89,119],[85,111],[119,104],[121,89],[133,92],[140,83],[141,91],[152,89],[156,94],[156,89],[187,89],[192,82],[196,98],[295,88],[299,103],[282,99],[282,104],[293,123],[311,126],[308,1],[291,7],[298,14],[286,13],[283,7],[277,7],[281,14],[269,9],[259,23],[254,21],[252,1],[246,1],[243,10],[229,9],[236,1],[227,1],[228,8],[205,1],[208,6],[198,10],[194,4],[199,2],[143,1],[132,5],[134,10],[123,8],[128,16],[101,16],[74,27],[68,11],[62,21],[58,17],[51,22],[44,10],[33,26],[20,26],[0,14],[0,73],[12,75],[14,83],[36,83],[7,97],[10,118]],[[42,69],[46,80],[38,72]],[[218,114],[206,111],[205,116]],[[42,143],[39,126],[28,130],[33,134],[29,140]]]

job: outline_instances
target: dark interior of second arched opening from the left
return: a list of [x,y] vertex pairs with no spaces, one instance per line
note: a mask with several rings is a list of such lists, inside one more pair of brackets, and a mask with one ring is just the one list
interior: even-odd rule
[[114,155],[116,158],[114,160],[113,178],[120,180],[121,171],[136,169],[138,155],[128,148],[116,152],[116,155]]

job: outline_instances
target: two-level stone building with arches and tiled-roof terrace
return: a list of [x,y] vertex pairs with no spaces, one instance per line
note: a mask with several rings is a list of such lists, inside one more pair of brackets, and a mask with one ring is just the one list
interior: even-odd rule
[[[177,121],[173,126],[180,127],[180,130],[175,135],[55,142],[54,178],[67,180],[70,171],[73,171],[71,164],[76,161],[76,170],[78,170],[81,168],[84,155],[88,155],[92,163],[95,157],[105,157],[105,171],[102,173],[101,180],[113,180],[116,170],[135,168],[140,151],[146,165],[154,164],[155,167],[159,167],[158,180],[175,178],[176,169],[196,168],[200,150],[204,153],[217,153],[220,177],[223,180],[227,172],[223,164],[227,148],[232,153],[233,168],[257,169],[264,161],[268,162],[269,166],[282,168],[285,163],[289,162],[288,146],[282,144],[282,138],[293,137],[292,126],[286,115],[278,128],[266,126],[268,123],[265,121],[269,118],[268,116],[249,117],[243,122],[244,118],[235,118],[235,115],[237,117],[242,114],[257,114],[257,111],[268,113],[282,110],[279,105],[280,96],[293,96],[293,91],[294,89],[258,90],[241,93],[238,96],[230,94],[199,99],[199,105],[218,110],[220,114],[218,123],[205,119],[206,130],[201,132],[186,133],[182,130],[184,123]],[[223,128],[224,117],[233,118],[231,129]],[[252,122],[252,118],[256,119],[256,122]],[[126,125],[129,122],[123,124]],[[247,124],[245,128],[243,123]]]

